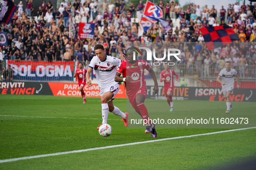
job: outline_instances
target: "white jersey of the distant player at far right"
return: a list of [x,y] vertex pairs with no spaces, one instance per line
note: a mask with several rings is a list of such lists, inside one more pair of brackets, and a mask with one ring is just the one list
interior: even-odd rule
[[229,88],[230,86],[234,86],[234,76],[237,76],[237,71],[235,69],[227,71],[227,69],[224,68],[220,70],[219,76],[222,77],[221,81],[225,82],[222,88]]

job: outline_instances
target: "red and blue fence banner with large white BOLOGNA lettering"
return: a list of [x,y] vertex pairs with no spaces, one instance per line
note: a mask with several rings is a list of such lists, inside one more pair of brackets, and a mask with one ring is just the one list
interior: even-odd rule
[[6,68],[8,65],[11,65],[11,68],[13,69],[13,79],[32,81],[72,81],[75,62],[6,60]]

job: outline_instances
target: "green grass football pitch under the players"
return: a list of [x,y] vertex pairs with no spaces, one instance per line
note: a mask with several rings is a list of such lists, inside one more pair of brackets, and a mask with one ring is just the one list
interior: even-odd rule
[[[155,102],[146,101],[146,106]],[[154,140],[144,129],[126,129],[112,113],[108,116],[112,135],[101,137],[96,129],[101,124],[100,98],[82,102],[82,98],[71,97],[0,95],[0,160]],[[113,102],[126,110],[125,99]],[[166,101],[161,102],[169,108]],[[205,110],[222,114],[226,108],[224,102],[174,104],[170,114]],[[255,112],[254,108],[255,103],[233,102],[230,114]],[[157,129],[156,139],[223,130],[228,129]],[[255,141],[256,129],[247,129],[12,161],[0,163],[0,169],[211,169],[256,156]]]

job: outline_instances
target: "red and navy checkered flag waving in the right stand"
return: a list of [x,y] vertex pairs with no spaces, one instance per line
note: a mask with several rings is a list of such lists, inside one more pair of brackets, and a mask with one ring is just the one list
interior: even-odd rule
[[231,44],[232,41],[239,41],[238,35],[234,29],[229,26],[215,26],[201,28],[204,41],[208,50]]

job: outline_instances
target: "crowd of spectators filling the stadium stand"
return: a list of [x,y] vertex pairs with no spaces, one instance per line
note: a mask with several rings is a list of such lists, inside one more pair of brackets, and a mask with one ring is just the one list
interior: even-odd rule
[[[20,2],[10,24],[0,25],[0,31],[7,33],[9,44],[0,47],[0,60],[78,60],[89,63],[95,56],[96,44],[103,44],[107,55],[123,60],[127,41],[151,45],[155,42],[153,46],[159,49],[156,52],[159,58],[162,58],[165,47],[181,50],[178,65],[184,69],[182,74],[200,76],[203,68],[204,76],[214,75],[224,68],[226,60],[230,60],[233,67],[240,70],[240,77],[255,78],[256,3],[239,6],[236,2],[229,4],[227,9],[224,6],[216,9],[214,5],[201,8],[191,3],[182,8],[175,1],[163,3],[160,0],[157,5],[172,29],[164,32],[161,24],[156,23],[140,35],[136,13],[143,12],[143,2],[146,1],[140,0],[137,6],[133,3],[126,6],[123,0],[104,0],[103,3],[85,0],[83,4],[80,0],[73,4],[63,0],[56,9],[50,1],[44,1],[39,9],[33,8],[32,0],[26,0],[26,4]],[[69,14],[75,25],[75,38],[69,38]],[[95,23],[94,39],[78,38],[79,22]],[[200,30],[217,25],[233,27],[241,42],[207,50]],[[144,56],[143,59],[146,60]]]

